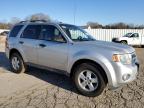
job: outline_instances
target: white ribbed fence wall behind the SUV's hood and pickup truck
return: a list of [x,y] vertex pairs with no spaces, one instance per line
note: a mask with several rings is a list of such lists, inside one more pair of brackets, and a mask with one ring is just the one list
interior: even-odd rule
[[126,33],[139,33],[144,36],[144,29],[86,29],[97,40],[111,41],[114,37],[124,36]]

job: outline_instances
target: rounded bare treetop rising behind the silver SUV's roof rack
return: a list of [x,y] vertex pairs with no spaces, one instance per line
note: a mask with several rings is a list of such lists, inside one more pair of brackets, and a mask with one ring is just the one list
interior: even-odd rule
[[36,13],[33,15],[30,15],[26,17],[26,20],[45,20],[45,21],[51,21],[51,18],[43,13]]

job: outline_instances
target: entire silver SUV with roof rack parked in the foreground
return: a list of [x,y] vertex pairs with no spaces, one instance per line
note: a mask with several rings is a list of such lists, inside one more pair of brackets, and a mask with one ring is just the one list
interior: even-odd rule
[[27,66],[70,76],[85,96],[98,96],[108,84],[116,89],[136,79],[139,63],[132,47],[97,41],[81,28],[64,23],[26,21],[6,40],[12,70]]

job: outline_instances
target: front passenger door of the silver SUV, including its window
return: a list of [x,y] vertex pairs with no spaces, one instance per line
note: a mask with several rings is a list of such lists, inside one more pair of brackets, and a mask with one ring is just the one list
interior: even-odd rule
[[66,70],[68,61],[68,43],[59,29],[53,25],[42,26],[39,41],[38,62],[40,65]]

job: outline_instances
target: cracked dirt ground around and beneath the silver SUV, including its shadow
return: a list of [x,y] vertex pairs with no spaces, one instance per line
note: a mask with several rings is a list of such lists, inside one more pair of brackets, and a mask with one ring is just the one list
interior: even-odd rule
[[0,108],[143,108],[144,49],[136,50],[141,63],[138,79],[88,98],[79,95],[66,76],[35,68],[20,75],[10,72],[0,45]]

